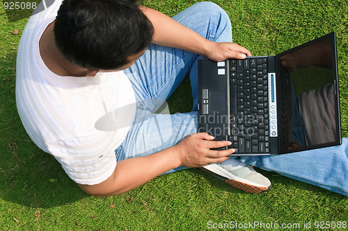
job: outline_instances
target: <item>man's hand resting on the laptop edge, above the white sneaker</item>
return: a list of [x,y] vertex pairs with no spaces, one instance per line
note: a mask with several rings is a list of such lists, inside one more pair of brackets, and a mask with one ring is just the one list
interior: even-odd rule
[[234,149],[223,151],[211,150],[210,148],[221,148],[229,146],[228,141],[214,141],[214,137],[205,132],[194,133],[182,139],[173,146],[181,166],[189,168],[205,166],[207,164],[219,163],[228,159],[228,155],[235,152]]

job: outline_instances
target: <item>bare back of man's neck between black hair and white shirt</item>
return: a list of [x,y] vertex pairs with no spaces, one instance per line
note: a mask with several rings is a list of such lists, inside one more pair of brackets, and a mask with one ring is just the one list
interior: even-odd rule
[[53,28],[54,22],[47,26],[39,42],[40,55],[47,68],[58,76],[87,76],[87,69],[74,65],[58,50]]

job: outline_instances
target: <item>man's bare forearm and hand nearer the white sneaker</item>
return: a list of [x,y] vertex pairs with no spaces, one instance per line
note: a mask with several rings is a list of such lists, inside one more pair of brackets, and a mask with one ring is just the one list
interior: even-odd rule
[[90,195],[111,196],[139,187],[178,166],[198,167],[227,160],[228,155],[234,152],[233,149],[213,151],[210,148],[228,146],[230,142],[217,142],[212,139],[214,137],[207,133],[189,135],[179,144],[164,151],[118,162],[113,174],[100,184],[78,185]]

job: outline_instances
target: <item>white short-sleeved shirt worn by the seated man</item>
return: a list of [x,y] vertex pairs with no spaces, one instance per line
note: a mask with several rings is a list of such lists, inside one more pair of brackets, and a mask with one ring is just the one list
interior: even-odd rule
[[72,180],[95,185],[116,167],[115,150],[134,119],[134,91],[123,71],[72,77],[47,68],[39,41],[59,6],[55,1],[26,24],[17,53],[17,110],[33,142]]

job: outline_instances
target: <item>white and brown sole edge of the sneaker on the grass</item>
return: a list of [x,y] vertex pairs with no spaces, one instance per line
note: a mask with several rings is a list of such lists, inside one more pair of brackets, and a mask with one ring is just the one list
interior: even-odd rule
[[[269,191],[269,189],[271,189],[271,185],[269,185],[269,187],[264,186],[264,185],[258,185],[255,183],[252,185],[250,181],[244,180],[244,182],[243,182],[243,179],[238,178],[237,176],[235,176],[235,179],[231,179],[231,176],[227,177],[226,173],[221,172],[221,175],[220,175],[219,173],[216,173],[214,171],[209,170],[211,168],[209,168],[208,166],[201,167],[200,169],[202,169],[203,171],[205,171],[209,174],[212,174],[216,178],[223,180],[224,182],[228,183],[229,185],[232,185],[233,187],[236,187],[237,189],[242,189],[243,191],[250,192],[253,194],[258,194],[260,192]],[[216,171],[216,169],[214,169],[214,170]],[[230,175],[232,175],[232,174],[230,174]]]

